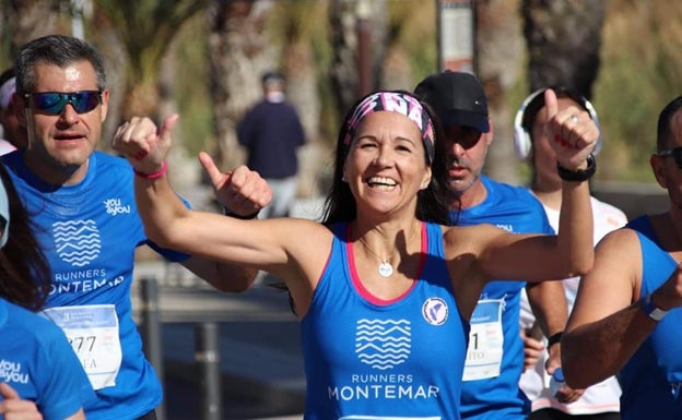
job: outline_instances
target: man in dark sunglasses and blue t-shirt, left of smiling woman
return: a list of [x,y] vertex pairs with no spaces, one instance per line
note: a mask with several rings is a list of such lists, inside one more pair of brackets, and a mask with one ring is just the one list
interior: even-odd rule
[[[155,419],[162,386],[142,352],[130,297],[134,250],[148,243],[133,172],[96,151],[109,104],[103,59],[78,38],[52,35],[23,46],[15,70],[28,146],[3,161],[52,268],[44,313],[67,333],[96,391],[84,407],[89,420]],[[222,181],[217,197],[236,215],[270,200],[267,183],[246,167]],[[256,275],[149,244],[225,291],[245,290]]]

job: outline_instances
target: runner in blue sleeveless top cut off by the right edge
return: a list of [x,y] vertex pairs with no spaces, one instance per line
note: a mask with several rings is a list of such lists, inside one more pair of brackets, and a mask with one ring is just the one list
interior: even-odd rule
[[682,96],[658,118],[656,149],[668,211],[599,242],[562,340],[569,386],[618,374],[623,420],[682,419]]

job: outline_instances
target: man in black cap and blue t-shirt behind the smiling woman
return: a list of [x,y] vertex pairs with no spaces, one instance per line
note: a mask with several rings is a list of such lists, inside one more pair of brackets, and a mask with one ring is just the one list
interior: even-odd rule
[[[479,80],[446,70],[414,89],[431,105],[445,131],[451,224],[492,224],[516,233],[552,233],[540,202],[522,187],[493,181],[483,165],[493,142],[485,92]],[[518,382],[524,370],[519,331],[520,297],[526,281],[485,286],[471,316],[465,367],[462,419],[526,419],[530,403]],[[545,335],[563,331],[567,309],[562,286],[543,281],[528,289]],[[551,349],[558,358],[558,346]]]

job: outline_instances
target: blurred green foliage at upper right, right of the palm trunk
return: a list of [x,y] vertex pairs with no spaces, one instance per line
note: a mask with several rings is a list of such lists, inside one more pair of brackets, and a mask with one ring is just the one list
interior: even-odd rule
[[680,16],[678,2],[611,3],[593,98],[604,132],[600,179],[654,182],[658,113],[682,86]]

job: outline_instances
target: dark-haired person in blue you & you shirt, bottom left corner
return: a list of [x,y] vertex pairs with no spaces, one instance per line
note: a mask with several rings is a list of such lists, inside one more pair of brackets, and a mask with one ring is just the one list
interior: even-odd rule
[[83,404],[94,398],[63,332],[35,313],[49,279],[28,214],[0,165],[0,418],[7,420],[83,420]]

